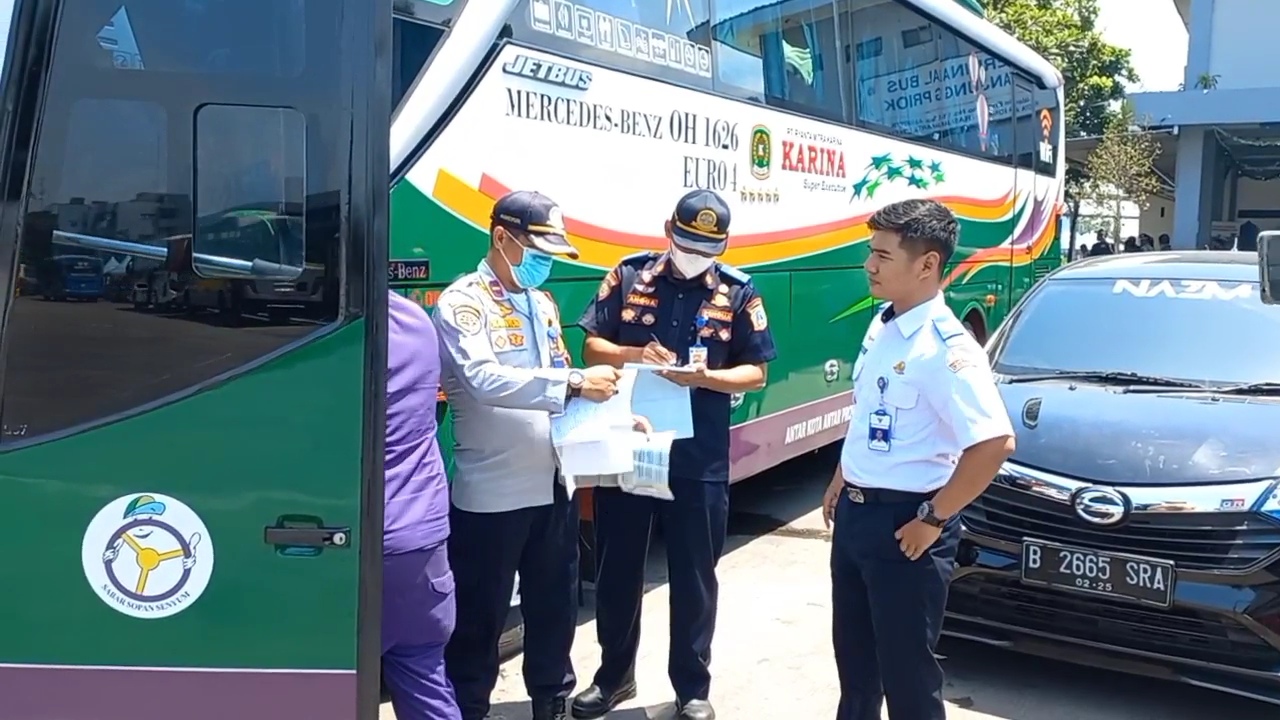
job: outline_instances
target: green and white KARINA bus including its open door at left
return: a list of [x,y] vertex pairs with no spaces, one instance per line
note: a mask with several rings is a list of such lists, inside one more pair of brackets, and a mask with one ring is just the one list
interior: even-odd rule
[[[735,398],[735,479],[842,436],[877,206],[961,218],[978,337],[1060,261],[1061,77],[954,0],[662,5],[0,9],[8,282],[92,251],[178,296],[324,288],[234,323],[3,295],[0,503],[42,515],[0,562],[0,717],[376,716],[385,293],[430,306],[508,188],[564,209],[570,320],[687,188],[731,201],[781,352]],[[246,208],[303,246],[195,232]]]

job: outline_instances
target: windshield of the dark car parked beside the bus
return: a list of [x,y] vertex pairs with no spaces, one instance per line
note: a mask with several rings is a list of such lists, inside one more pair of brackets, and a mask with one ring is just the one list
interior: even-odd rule
[[1018,311],[993,360],[1004,374],[1277,382],[1280,305],[1263,305],[1257,282],[1050,279]]

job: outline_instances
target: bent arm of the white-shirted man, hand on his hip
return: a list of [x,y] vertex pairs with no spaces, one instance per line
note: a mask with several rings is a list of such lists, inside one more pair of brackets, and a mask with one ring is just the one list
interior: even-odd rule
[[940,519],[954,518],[978,498],[1000,465],[1014,454],[1014,427],[996,388],[987,355],[972,338],[947,348],[938,392],[929,402],[956,433],[965,448],[951,479],[933,497]]

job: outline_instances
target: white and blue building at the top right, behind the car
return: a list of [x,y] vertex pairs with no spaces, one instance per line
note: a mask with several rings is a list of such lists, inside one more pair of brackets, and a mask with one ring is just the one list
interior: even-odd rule
[[1188,32],[1183,88],[1132,96],[1162,128],[1157,169],[1174,181],[1143,211],[1143,232],[1203,247],[1244,223],[1280,229],[1280,0],[1171,1]]

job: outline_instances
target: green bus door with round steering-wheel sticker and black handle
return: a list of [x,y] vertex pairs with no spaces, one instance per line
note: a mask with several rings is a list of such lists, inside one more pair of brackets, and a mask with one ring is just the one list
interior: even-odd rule
[[179,274],[340,292],[237,327],[0,292],[0,717],[378,716],[390,6],[17,1],[0,277],[255,210],[306,247]]

